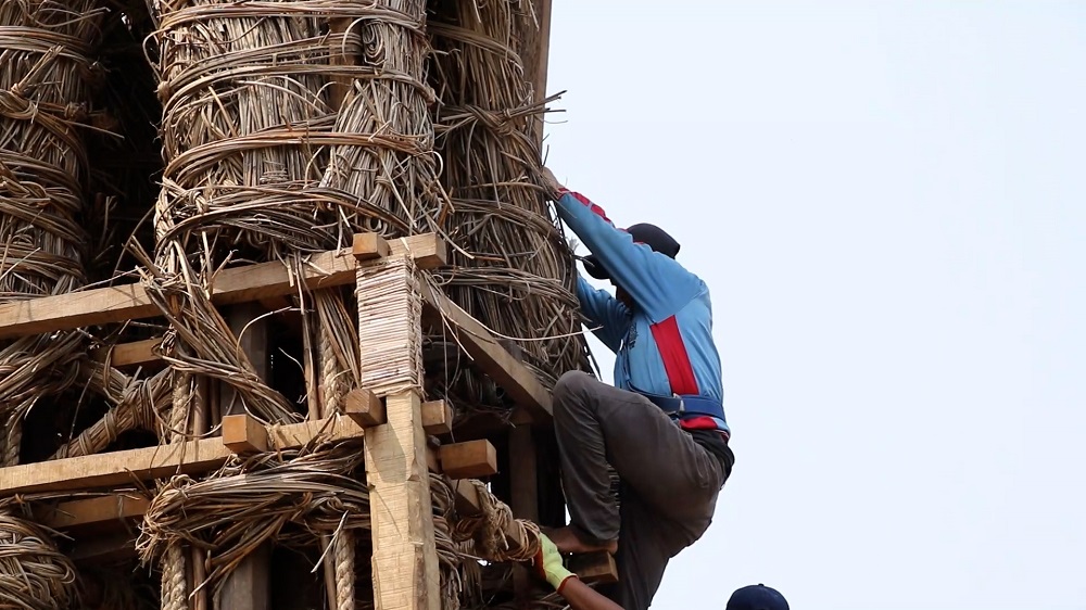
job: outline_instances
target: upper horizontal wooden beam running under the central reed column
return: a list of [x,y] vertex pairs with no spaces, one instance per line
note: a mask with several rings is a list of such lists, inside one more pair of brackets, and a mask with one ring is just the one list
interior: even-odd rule
[[[389,242],[392,256],[409,255],[419,268],[433,268],[446,259],[445,242],[434,233]],[[351,249],[314,254],[300,276],[282,263],[260,263],[224,269],[211,289],[216,305],[249,303],[298,292],[354,283],[358,263]],[[100,288],[55,296],[0,304],[0,339],[58,330],[153,318],[161,315],[141,284]]]

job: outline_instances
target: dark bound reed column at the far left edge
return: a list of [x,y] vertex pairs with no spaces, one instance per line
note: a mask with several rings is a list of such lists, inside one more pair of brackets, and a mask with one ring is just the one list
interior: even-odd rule
[[[77,126],[100,17],[93,0],[0,1],[0,301],[84,283],[87,158]],[[63,332],[0,346],[0,463],[18,461],[24,415],[71,386],[83,344]]]

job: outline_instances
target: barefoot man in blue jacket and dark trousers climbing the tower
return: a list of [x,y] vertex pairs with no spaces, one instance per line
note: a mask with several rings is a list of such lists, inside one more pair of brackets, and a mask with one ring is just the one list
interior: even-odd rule
[[[675,260],[679,243],[653,225],[619,229],[550,169],[544,186],[616,294],[578,278],[581,310],[616,354],[615,385],[581,371],[554,389],[554,423],[570,524],[548,532],[559,554],[616,554],[610,597],[644,610],[668,561],[700,538],[734,456],[722,407],[709,290]],[[621,510],[608,465],[621,480]]]

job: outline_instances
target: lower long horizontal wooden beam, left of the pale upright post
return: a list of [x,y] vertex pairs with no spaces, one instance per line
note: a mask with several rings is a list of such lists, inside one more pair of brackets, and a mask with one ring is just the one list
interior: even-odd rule
[[[361,439],[363,429],[349,418],[333,416],[317,421],[268,427],[270,449],[296,449],[314,439]],[[33,492],[72,492],[112,487],[162,479],[173,474],[197,474],[222,466],[233,455],[223,440],[200,439],[73,458],[0,468],[0,497]]]

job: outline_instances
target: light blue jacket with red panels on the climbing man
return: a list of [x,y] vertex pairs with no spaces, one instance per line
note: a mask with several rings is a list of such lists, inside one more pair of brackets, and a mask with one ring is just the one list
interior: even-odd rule
[[[629,308],[578,277],[581,310],[597,327],[593,332],[599,341],[615,352],[615,386],[662,396],[705,396],[721,404],[720,356],[705,282],[673,258],[634,243],[580,193],[563,191],[557,209],[635,304]],[[680,424],[725,434],[729,430],[717,417],[687,416]]]

